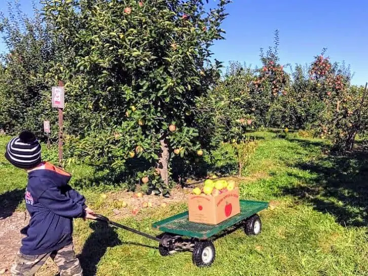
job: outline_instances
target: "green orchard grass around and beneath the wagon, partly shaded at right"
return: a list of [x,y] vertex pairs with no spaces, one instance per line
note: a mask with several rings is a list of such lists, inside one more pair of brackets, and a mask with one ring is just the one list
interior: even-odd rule
[[[249,175],[238,184],[241,198],[272,200],[276,205],[260,213],[260,235],[246,236],[239,229],[216,239],[215,263],[199,269],[190,253],[161,257],[154,241],[77,220],[76,250],[86,275],[368,275],[365,151],[332,156],[321,140],[256,135],[261,140],[247,168]],[[0,137],[1,148],[6,141]],[[77,179],[86,173],[85,168],[69,170]],[[0,156],[0,180],[0,207],[11,212],[24,208],[25,172]],[[101,202],[92,189],[82,192],[96,212],[111,214],[113,202]],[[119,222],[159,234],[151,223],[185,210],[185,203],[173,204]],[[53,275],[46,269],[40,274]]]

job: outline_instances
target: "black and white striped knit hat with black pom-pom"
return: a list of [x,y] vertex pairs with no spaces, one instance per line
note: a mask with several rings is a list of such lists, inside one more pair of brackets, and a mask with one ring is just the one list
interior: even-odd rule
[[18,168],[34,168],[41,163],[41,144],[32,132],[22,131],[7,144],[5,158]]

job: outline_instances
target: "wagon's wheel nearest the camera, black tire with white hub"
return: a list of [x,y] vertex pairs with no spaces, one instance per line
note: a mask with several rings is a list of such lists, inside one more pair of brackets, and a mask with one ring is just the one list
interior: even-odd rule
[[212,241],[198,241],[194,246],[192,260],[198,267],[210,266],[215,259],[216,251]]

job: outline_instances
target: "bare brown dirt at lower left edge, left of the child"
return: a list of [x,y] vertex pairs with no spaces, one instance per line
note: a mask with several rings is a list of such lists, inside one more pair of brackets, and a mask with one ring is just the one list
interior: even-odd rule
[[10,267],[23,238],[20,229],[28,224],[28,220],[27,212],[15,212],[12,216],[0,219],[0,271],[6,270],[3,275],[10,275]]

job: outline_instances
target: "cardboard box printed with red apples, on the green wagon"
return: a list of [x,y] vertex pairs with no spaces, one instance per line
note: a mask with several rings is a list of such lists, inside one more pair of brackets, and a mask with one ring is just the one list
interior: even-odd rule
[[239,189],[217,196],[189,195],[189,221],[218,224],[240,213]]

